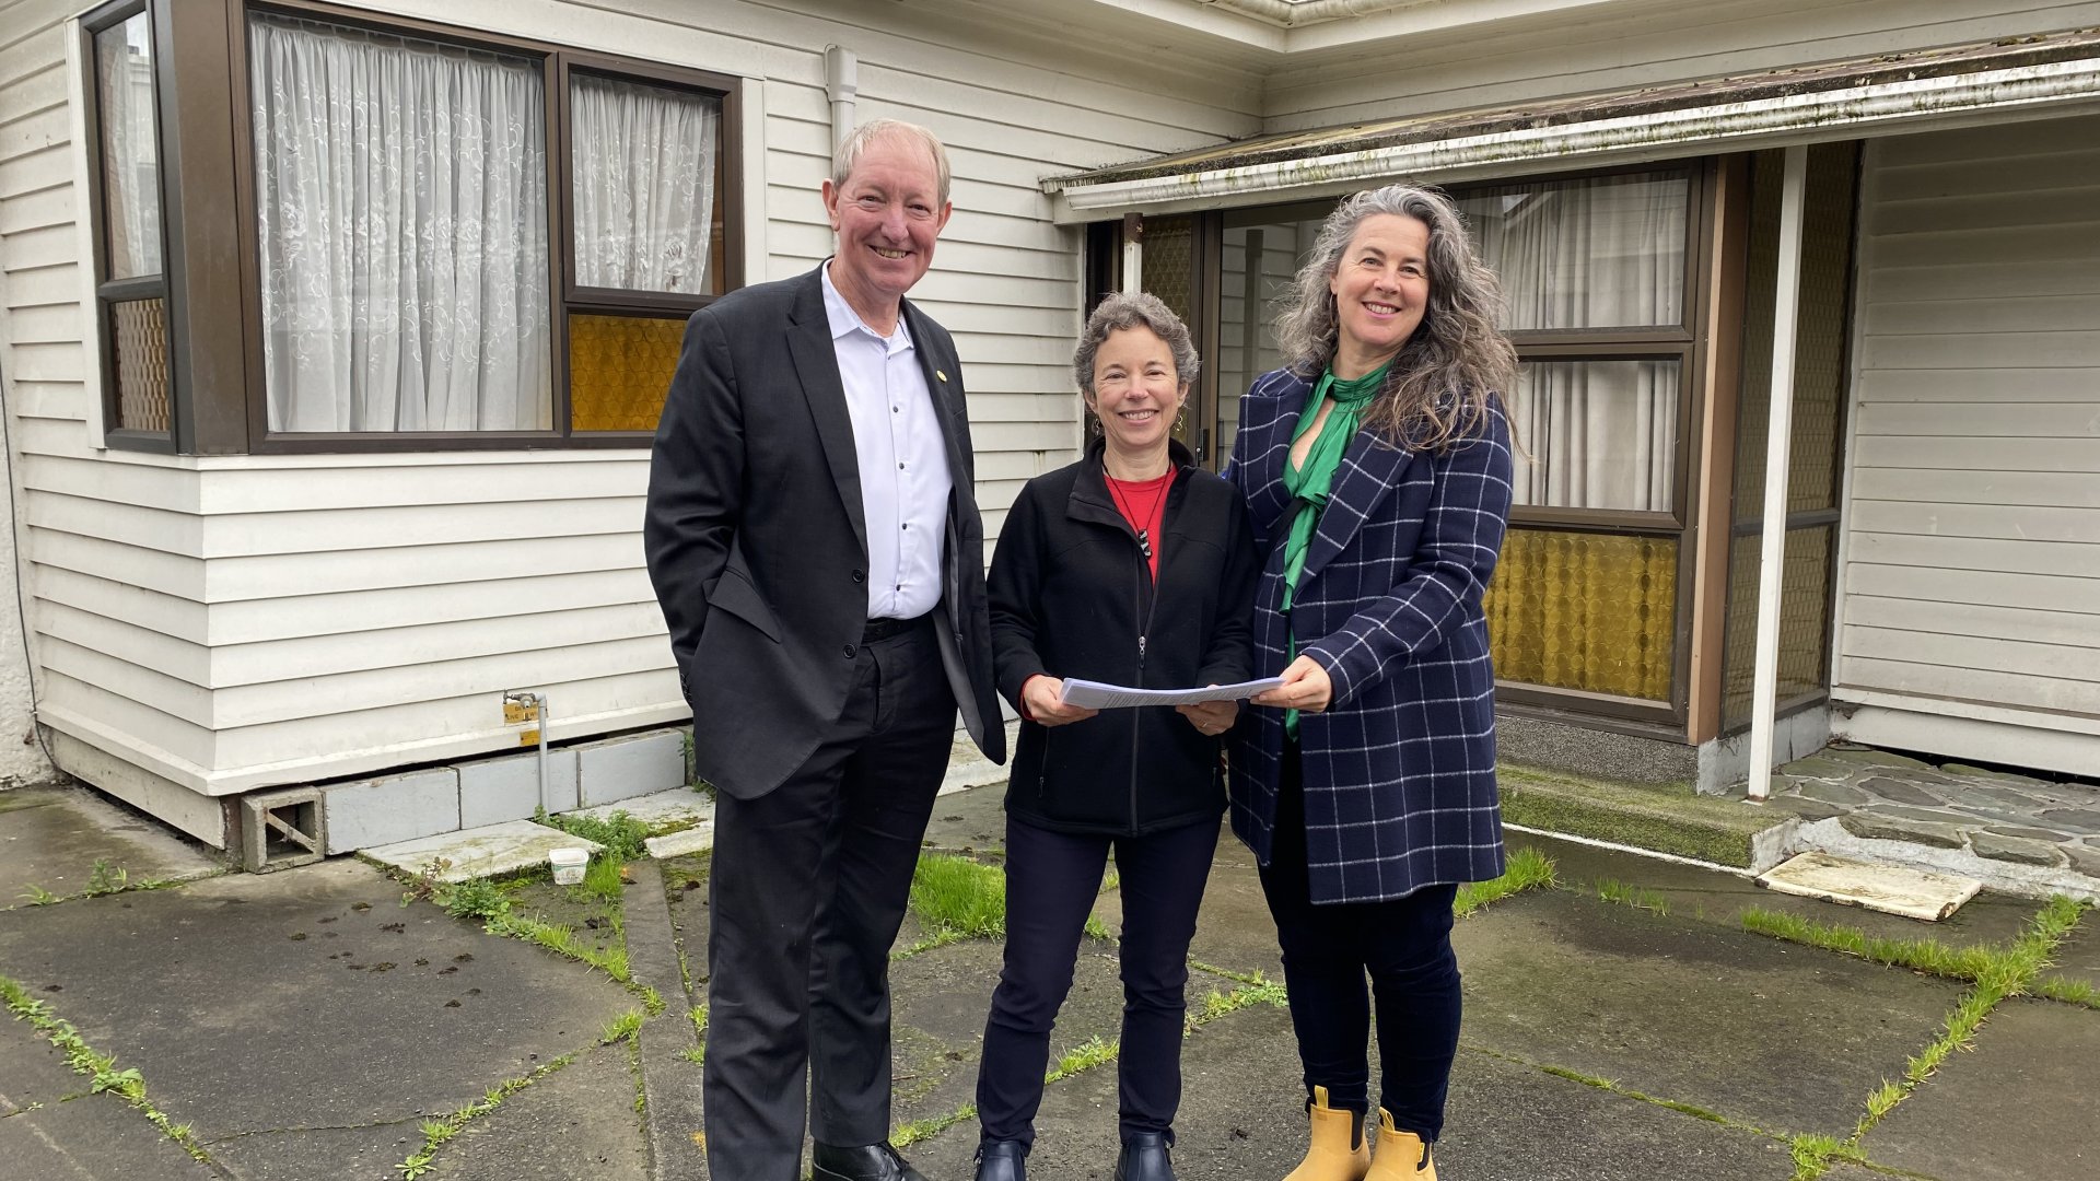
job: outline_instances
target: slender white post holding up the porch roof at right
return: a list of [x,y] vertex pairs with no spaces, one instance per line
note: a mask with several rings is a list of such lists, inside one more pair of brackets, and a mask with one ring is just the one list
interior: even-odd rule
[[1764,437],[1764,534],[1758,559],[1758,660],[1749,700],[1749,799],[1772,792],[1772,727],[1779,708],[1779,593],[1787,561],[1787,462],[1793,450],[1793,328],[1802,303],[1802,204],[1808,147],[1787,149],[1779,195],[1779,294],[1772,301],[1772,410]]

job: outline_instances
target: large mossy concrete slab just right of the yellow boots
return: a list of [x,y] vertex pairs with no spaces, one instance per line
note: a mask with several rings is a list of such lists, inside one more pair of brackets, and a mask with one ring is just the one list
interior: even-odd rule
[[1453,944],[1468,1044],[1774,1133],[1850,1131],[1961,994],[1569,891],[1497,902]]

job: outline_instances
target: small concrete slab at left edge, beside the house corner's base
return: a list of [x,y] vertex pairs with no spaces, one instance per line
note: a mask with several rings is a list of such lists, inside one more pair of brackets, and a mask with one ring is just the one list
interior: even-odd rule
[[80,786],[0,792],[0,908],[34,889],[74,895],[88,889],[94,862],[132,883],[187,880],[225,870],[218,855],[172,834],[136,811]]

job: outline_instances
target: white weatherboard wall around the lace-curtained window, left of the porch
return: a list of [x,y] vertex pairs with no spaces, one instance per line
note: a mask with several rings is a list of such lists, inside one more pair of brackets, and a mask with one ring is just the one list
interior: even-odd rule
[[[504,689],[546,689],[556,738],[682,717],[640,559],[647,452],[153,458],[94,446],[65,25],[82,6],[0,4],[0,368],[42,719],[223,794],[514,746]],[[1082,231],[1050,223],[1040,179],[1258,130],[1256,86],[1233,71],[1138,71],[1138,48],[890,2],[365,6],[743,76],[752,282],[830,252],[821,57],[855,50],[859,118],[924,122],[951,147],[956,216],[914,294],[964,359],[987,532],[1021,481],[1077,448]],[[0,672],[0,750],[15,729]]]

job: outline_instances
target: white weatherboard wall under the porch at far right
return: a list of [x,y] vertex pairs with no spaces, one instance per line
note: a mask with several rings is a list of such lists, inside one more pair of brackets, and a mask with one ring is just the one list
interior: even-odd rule
[[2100,118],[1875,141],[1865,168],[1833,693],[2092,773]]

